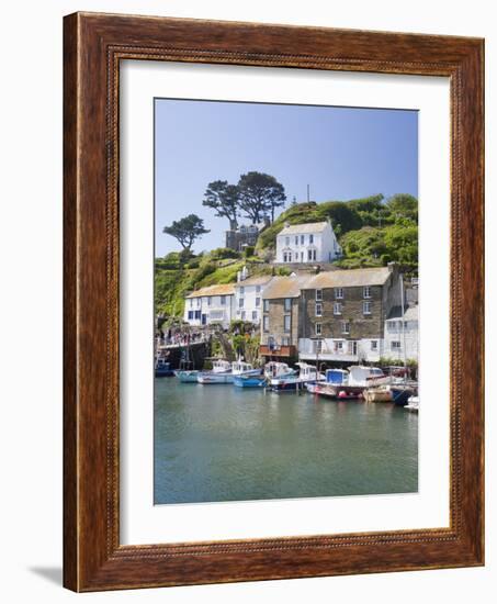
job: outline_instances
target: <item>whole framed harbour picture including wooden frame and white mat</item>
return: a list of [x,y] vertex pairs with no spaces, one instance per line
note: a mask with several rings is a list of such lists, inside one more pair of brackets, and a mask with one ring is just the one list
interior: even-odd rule
[[65,585],[478,566],[483,41],[65,19]]

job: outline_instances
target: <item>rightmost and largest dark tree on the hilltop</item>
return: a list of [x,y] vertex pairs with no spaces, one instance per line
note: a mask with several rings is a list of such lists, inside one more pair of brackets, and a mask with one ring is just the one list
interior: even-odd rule
[[274,222],[274,211],[284,205],[285,190],[281,182],[270,175],[262,172],[247,172],[238,181],[240,208],[252,223],[261,222],[267,212],[271,213]]

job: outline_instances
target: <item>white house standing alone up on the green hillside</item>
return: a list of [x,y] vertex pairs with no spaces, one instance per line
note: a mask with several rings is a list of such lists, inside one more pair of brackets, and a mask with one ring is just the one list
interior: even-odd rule
[[341,247],[329,222],[286,223],[276,236],[276,262],[331,262],[339,256]]

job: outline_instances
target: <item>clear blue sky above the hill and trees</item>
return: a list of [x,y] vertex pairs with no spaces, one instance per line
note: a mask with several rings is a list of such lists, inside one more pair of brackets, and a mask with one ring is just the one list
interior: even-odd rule
[[[227,219],[202,200],[207,183],[236,184],[261,171],[287,201],[347,201],[418,194],[418,113],[223,101],[156,99],[156,255],[180,250],[165,225],[194,213],[211,233],[195,251],[224,246]],[[244,222],[249,222],[248,220]]]

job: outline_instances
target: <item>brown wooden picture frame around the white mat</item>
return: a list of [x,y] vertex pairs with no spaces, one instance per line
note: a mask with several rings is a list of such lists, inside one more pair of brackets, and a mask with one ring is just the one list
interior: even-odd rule
[[[483,564],[483,41],[92,13],[71,14],[64,25],[65,586],[98,591]],[[450,79],[449,528],[120,544],[123,59]]]

